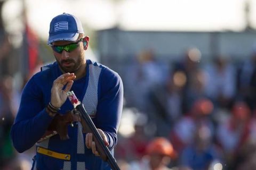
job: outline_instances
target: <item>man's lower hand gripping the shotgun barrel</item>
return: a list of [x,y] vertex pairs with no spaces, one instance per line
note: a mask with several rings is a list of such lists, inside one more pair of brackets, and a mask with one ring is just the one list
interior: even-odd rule
[[[101,130],[97,129],[98,132],[100,133],[101,138],[103,139],[103,142],[105,143],[106,146],[109,146],[108,139],[106,134]],[[100,156],[99,152],[96,149],[95,142],[93,141],[92,133],[87,133],[85,137],[85,145],[88,149],[92,149],[92,152],[95,156]]]

